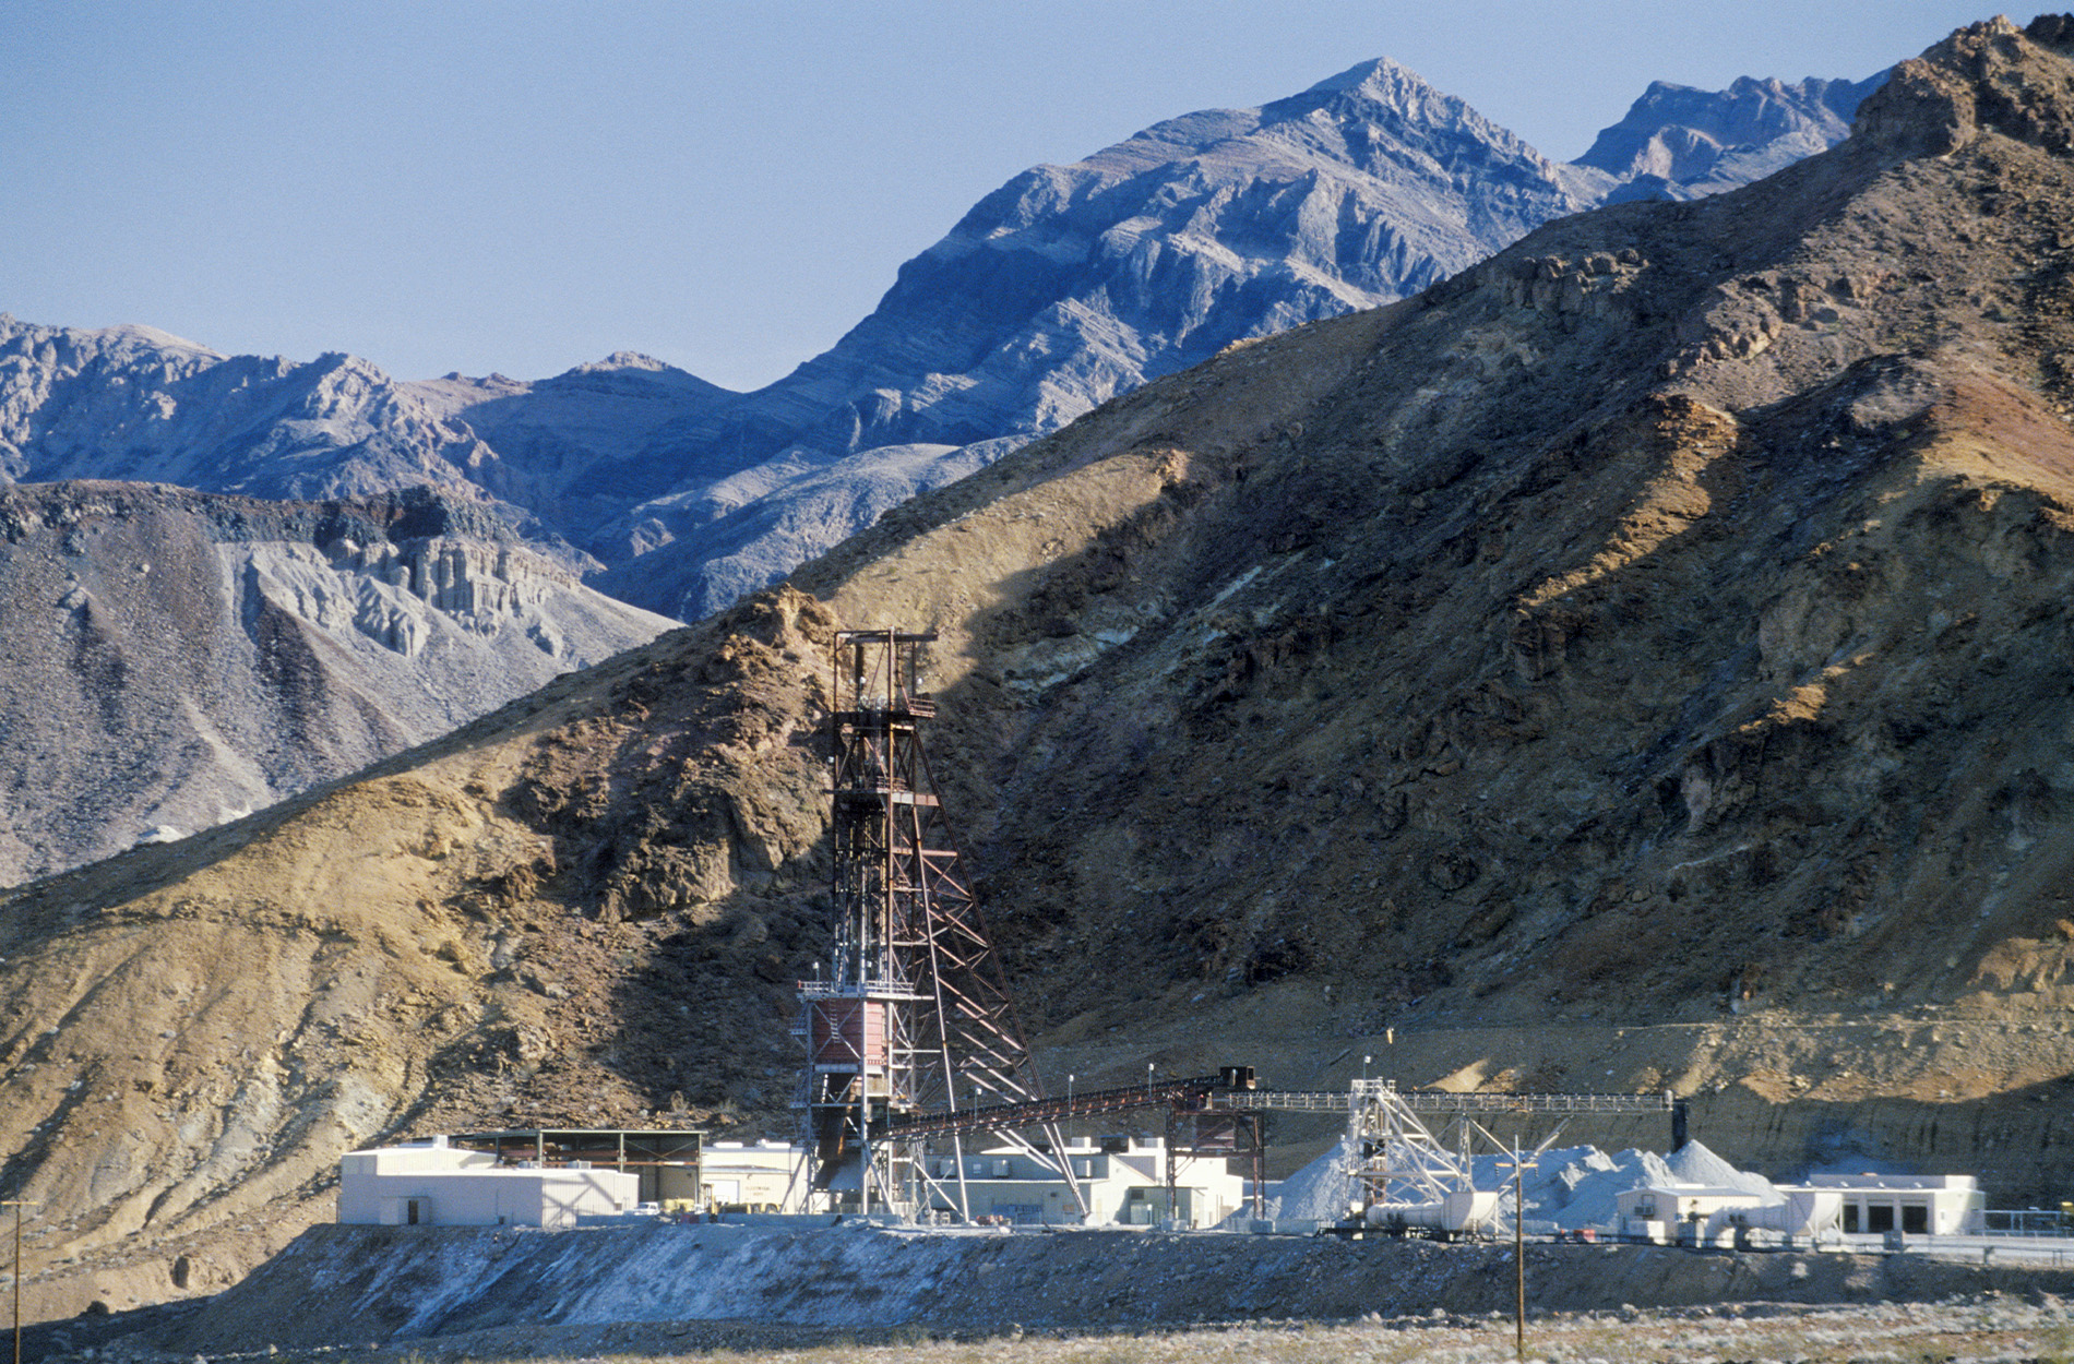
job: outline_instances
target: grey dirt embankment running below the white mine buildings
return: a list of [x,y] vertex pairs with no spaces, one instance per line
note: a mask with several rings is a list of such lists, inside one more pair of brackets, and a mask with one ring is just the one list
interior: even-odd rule
[[[1537,1310],[1927,1302],[2074,1291],[2074,1271],[1925,1256],[1533,1246]],[[1512,1308],[1508,1246],[1132,1231],[830,1227],[317,1227],[185,1320],[135,1339],[180,1356],[409,1343],[614,1323],[931,1331],[1485,1314]],[[56,1329],[41,1337],[58,1345]]]

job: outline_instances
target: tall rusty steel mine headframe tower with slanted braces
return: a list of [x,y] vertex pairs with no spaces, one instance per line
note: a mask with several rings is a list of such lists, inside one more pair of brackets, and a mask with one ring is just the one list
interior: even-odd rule
[[[861,1211],[873,1200],[913,1209],[917,1186],[931,1180],[923,1138],[894,1134],[900,1119],[1043,1097],[921,742],[935,715],[919,686],[921,649],[933,638],[836,634],[834,956],[823,978],[801,983],[794,1030],[807,1043],[798,1107],[811,1188],[854,1192]],[[1004,1138],[1064,1177],[1056,1128],[1037,1142]],[[950,1140],[962,1171],[960,1140]],[[958,1194],[950,1200],[964,1206]]]

